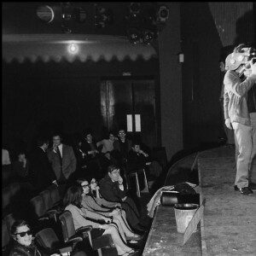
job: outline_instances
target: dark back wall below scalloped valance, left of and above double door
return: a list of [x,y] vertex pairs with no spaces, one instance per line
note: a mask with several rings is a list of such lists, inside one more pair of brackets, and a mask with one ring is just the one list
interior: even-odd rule
[[156,59],[3,62],[3,143],[12,150],[17,143],[25,143],[29,150],[38,133],[49,136],[55,130],[72,143],[72,135],[85,127],[91,127],[99,139],[103,125],[101,78],[120,77],[124,72],[135,78],[156,76],[157,63]]

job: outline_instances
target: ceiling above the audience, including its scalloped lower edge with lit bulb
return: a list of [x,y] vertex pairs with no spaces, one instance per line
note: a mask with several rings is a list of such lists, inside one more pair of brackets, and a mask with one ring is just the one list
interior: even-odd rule
[[[114,10],[115,22],[100,30],[96,29],[93,18],[95,3],[72,4],[86,9],[88,17],[84,24],[67,23],[73,32],[64,33],[59,19],[61,14],[58,13],[60,2],[2,3],[3,61],[136,61],[139,58],[148,61],[157,57],[151,44],[133,45],[126,38],[124,3],[108,3]],[[106,3],[102,4],[106,6]],[[45,5],[56,9],[56,18],[49,24],[37,16],[38,6]],[[71,44],[77,47],[74,53],[68,50]]]

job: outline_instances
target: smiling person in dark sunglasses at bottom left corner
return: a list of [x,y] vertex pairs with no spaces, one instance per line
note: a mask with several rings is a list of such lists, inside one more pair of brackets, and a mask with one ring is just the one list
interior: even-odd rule
[[32,241],[32,230],[25,220],[16,220],[11,227],[14,240],[9,256],[41,256]]

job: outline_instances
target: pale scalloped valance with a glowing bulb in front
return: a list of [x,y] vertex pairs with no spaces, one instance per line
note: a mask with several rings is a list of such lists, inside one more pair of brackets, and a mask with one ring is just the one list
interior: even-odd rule
[[[35,61],[148,61],[157,54],[152,45],[133,45],[125,37],[73,34],[13,34],[3,35],[2,58],[9,63]],[[78,52],[68,51],[76,44]]]

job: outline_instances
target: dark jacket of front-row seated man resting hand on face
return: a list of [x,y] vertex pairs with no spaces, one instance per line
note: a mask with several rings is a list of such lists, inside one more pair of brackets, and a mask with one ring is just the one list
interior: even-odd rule
[[119,189],[119,183],[113,182],[108,173],[100,181],[100,189],[102,197],[107,201],[122,202],[126,195],[126,189]]

